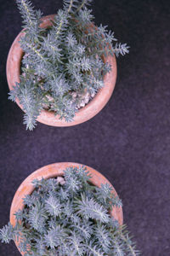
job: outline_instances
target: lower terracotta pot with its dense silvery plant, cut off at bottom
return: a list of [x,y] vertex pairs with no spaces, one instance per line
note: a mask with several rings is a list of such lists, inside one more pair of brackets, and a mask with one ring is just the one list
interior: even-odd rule
[[93,168],[75,163],[44,166],[26,178],[0,239],[14,240],[22,255],[138,254],[122,226],[116,190]]

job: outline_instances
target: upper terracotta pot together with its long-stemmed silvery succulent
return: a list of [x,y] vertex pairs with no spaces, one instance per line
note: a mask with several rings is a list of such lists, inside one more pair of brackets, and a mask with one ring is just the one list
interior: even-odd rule
[[109,101],[116,83],[115,55],[127,44],[106,26],[94,26],[92,0],[64,0],[57,15],[42,17],[28,0],[17,0],[24,22],[7,61],[9,99],[25,112],[32,130],[37,120],[70,126],[94,117]]

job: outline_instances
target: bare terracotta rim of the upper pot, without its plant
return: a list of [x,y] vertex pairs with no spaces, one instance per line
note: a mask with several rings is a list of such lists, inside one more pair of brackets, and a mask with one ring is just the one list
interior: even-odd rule
[[[54,19],[54,15],[48,15],[42,18],[42,27],[51,26],[52,23],[50,20]],[[21,31],[20,34],[15,38],[14,43],[12,44],[7,59],[7,80],[9,90],[13,89],[15,82],[20,83],[20,62],[22,56],[24,55],[23,50],[20,48],[20,37],[24,35],[24,32]],[[105,62],[108,62],[111,65],[111,72],[107,73],[104,78],[105,86],[99,90],[94,99],[88,103],[84,108],[81,108],[76,113],[72,122],[66,122],[65,119],[60,120],[59,115],[54,115],[53,112],[48,112],[47,110],[42,110],[40,115],[37,117],[37,121],[45,125],[53,126],[72,126],[81,124],[88,119],[91,119],[99,113],[99,111],[105,107],[105,104],[109,101],[112,92],[116,84],[116,57],[115,55],[108,56],[104,58]],[[20,108],[19,100],[16,100]]]

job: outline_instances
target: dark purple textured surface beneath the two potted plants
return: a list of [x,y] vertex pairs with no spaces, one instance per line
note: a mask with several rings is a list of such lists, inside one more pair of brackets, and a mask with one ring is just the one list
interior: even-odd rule
[[[61,0],[34,0],[44,15]],[[106,5],[107,4],[107,5]],[[5,64],[20,32],[14,1],[0,7],[0,224],[8,222],[15,190],[31,172],[59,161],[94,167],[123,201],[124,222],[144,256],[170,255],[169,1],[94,0],[95,22],[108,24],[130,54],[117,61],[116,89],[94,119],[70,128],[22,125],[22,111],[7,99]],[[20,255],[14,243],[0,255]]]

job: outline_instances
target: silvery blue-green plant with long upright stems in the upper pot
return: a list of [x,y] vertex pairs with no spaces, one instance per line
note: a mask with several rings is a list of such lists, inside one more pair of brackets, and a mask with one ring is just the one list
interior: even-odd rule
[[94,16],[88,9],[91,2],[64,0],[53,25],[42,28],[41,11],[32,8],[28,0],[16,0],[26,32],[20,38],[25,55],[20,83],[15,84],[9,99],[20,100],[26,129],[35,127],[44,108],[71,121],[85,104],[81,105],[82,97],[77,95],[94,96],[104,86],[104,75],[111,67],[103,56],[128,52],[127,44],[112,45],[116,38],[106,26],[94,27]]

